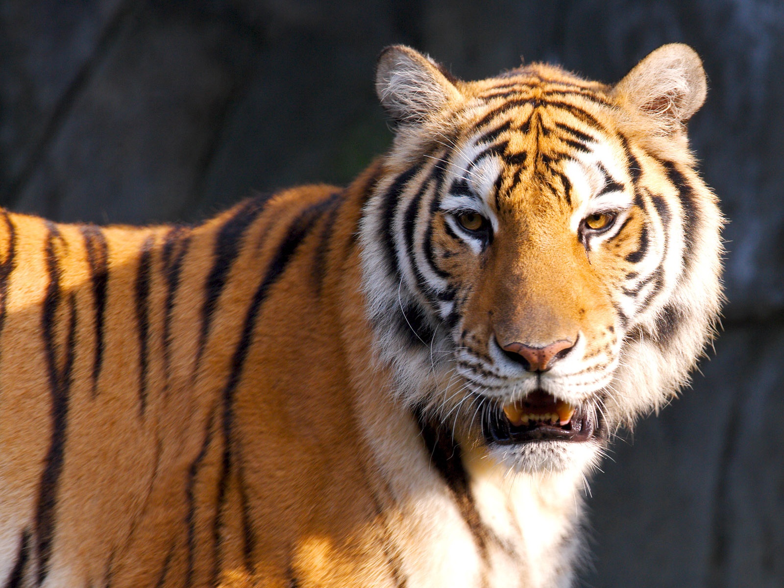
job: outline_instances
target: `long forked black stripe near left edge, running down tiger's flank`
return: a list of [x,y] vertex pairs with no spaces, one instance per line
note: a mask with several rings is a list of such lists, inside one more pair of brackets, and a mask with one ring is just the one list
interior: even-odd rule
[[55,250],[55,240],[62,241],[60,230],[45,221],[48,229],[45,244],[45,263],[49,274],[49,285],[43,303],[41,329],[45,348],[49,390],[51,394],[52,432],[49,451],[44,459],[38,493],[38,510],[35,514],[35,538],[38,543],[38,584],[42,584],[49,573],[49,558],[52,556],[52,542],[55,529],[55,509],[60,474],[63,469],[63,456],[68,423],[69,389],[71,387],[71,366],[74,359],[74,339],[76,335],[76,301],[74,293],[68,297],[71,313],[64,361],[62,369],[57,365],[56,320],[62,292],[60,290],[60,265]]

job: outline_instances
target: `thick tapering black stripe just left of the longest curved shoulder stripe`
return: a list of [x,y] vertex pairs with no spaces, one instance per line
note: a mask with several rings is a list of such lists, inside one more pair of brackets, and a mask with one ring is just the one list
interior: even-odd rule
[[238,256],[245,230],[256,220],[263,209],[263,202],[256,198],[245,201],[234,212],[234,216],[231,216],[223,223],[223,227],[220,227],[213,252],[215,261],[212,262],[212,270],[207,278],[204,305],[201,307],[201,332],[199,332],[194,373],[198,371],[201,355],[204,354],[207,335],[212,324],[212,312],[215,310],[220,293],[223,292],[223,286],[226,285],[231,265]]

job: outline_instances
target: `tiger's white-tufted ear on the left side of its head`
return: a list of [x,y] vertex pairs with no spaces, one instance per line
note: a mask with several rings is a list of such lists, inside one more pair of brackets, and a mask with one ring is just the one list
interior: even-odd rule
[[391,45],[381,52],[376,95],[395,122],[413,124],[462,97],[438,64],[405,45]]

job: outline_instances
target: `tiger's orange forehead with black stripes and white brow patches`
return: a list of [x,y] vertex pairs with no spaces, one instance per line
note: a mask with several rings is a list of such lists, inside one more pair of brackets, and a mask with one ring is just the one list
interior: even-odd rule
[[626,157],[604,103],[586,103],[582,94],[573,100],[565,84],[557,92],[552,84],[503,86],[513,87],[516,98],[476,109],[477,124],[453,142],[457,182],[499,212],[534,204],[583,209],[597,194],[622,191]]

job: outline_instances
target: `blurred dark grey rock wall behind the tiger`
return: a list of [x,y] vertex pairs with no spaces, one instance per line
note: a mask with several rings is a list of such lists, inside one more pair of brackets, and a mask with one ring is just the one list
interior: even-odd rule
[[663,43],[702,56],[690,128],[730,220],[724,332],[593,481],[581,586],[784,586],[780,0],[2,0],[0,204],[149,223],[347,183],[390,143],[372,79],[394,42],[460,78],[522,57],[615,82]]

